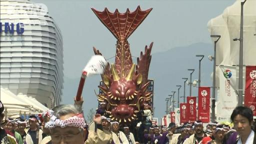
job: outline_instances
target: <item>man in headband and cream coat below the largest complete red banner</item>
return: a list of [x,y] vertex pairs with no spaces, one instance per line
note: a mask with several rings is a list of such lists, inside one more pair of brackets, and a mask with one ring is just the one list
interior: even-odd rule
[[194,132],[194,134],[185,139],[183,144],[198,144],[203,137],[208,136],[203,133],[203,125],[200,120],[194,121]]

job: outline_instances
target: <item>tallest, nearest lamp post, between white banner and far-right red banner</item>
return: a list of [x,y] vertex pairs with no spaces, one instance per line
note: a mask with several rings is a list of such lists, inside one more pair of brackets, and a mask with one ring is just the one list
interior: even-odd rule
[[240,15],[240,38],[234,38],[233,40],[239,40],[239,78],[238,78],[238,106],[242,106],[242,68],[243,68],[243,4],[246,0],[241,2],[241,15]]

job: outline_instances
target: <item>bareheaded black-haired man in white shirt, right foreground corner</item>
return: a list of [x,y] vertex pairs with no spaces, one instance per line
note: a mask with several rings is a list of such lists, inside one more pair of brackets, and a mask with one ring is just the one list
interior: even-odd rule
[[245,106],[237,106],[234,108],[231,116],[234,123],[234,129],[238,132],[238,144],[255,143],[254,131],[251,129],[253,123],[252,110]]

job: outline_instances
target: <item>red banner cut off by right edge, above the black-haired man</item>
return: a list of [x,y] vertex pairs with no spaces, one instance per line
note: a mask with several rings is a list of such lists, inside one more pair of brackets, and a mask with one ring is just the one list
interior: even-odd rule
[[256,116],[256,66],[246,66],[244,105],[250,107]]

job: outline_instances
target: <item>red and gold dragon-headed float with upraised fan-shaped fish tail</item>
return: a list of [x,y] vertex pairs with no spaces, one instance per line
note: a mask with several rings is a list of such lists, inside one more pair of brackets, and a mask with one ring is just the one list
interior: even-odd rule
[[[115,63],[109,63],[101,75],[103,85],[99,88],[103,94],[98,94],[98,101],[106,102],[106,109],[111,111],[111,120],[121,123],[132,121],[135,110],[140,110],[144,103],[151,101],[152,93],[147,91],[150,81],[147,79],[151,60],[152,42],[149,47],[145,46],[144,54],[140,52],[137,64],[131,59],[127,38],[144,20],[152,8],[141,10],[138,6],[133,12],[127,8],[125,13],[119,13],[116,9],[113,13],[107,8],[97,11],[91,8],[99,20],[110,30],[117,39]],[[95,54],[101,53],[93,47]]]

